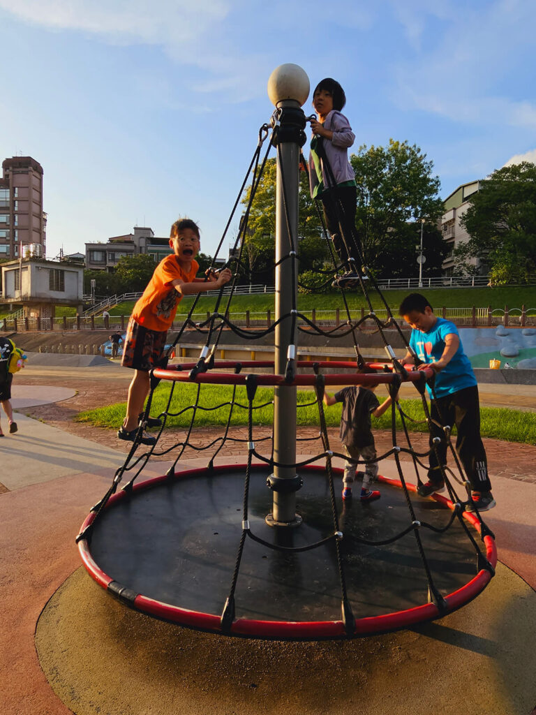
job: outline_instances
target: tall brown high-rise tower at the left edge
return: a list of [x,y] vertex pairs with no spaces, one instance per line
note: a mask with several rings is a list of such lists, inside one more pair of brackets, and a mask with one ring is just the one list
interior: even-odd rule
[[21,252],[46,254],[46,213],[43,211],[43,167],[31,157],[2,162],[0,179],[0,258]]

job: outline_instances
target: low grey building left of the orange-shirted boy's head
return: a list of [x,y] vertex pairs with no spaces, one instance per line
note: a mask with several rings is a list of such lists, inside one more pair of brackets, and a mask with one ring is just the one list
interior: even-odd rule
[[86,269],[113,272],[121,257],[147,253],[159,262],[169,255],[169,238],[158,238],[151,228],[134,227],[134,233],[112,236],[106,243],[86,243]]

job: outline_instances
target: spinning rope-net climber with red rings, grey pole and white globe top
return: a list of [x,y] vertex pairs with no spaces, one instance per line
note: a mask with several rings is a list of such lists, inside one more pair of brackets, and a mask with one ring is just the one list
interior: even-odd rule
[[[352,319],[342,288],[346,322],[324,329],[297,310],[298,243],[297,186],[299,147],[305,140],[306,118],[301,106],[309,94],[309,80],[296,65],[282,65],[269,81],[269,96],[276,105],[270,125],[259,129],[259,142],[239,191],[253,173],[250,204],[232,255],[244,265],[242,250],[247,217],[259,186],[268,152],[277,152],[276,320],[263,330],[244,330],[229,319],[233,291],[215,300],[214,310],[202,323],[189,317],[179,330],[192,327],[206,337],[197,362],[162,367],[152,373],[152,390],[137,441],[124,465],[96,503],[77,537],[86,570],[108,593],[131,608],[229,636],[257,638],[354,638],[407,628],[455,611],[475,598],[495,573],[495,539],[478,511],[467,513],[470,485],[443,425],[454,469],[442,468],[447,497],[420,498],[407,481],[409,464],[420,485],[419,467],[429,452],[412,446],[408,417],[392,403],[392,448],[379,455],[380,470],[393,468],[396,478],[383,476],[382,500],[377,503],[341,503],[334,479],[341,470],[335,458],[344,458],[329,445],[322,398],[327,385],[367,385],[379,381],[395,396],[402,382],[415,385],[427,423],[431,418],[425,388],[433,389],[432,370],[406,370],[385,337],[388,327],[402,335],[374,277],[359,270],[359,288],[368,312]],[[261,149],[272,128],[264,157]],[[239,199],[234,206],[236,210]],[[227,223],[229,227],[231,220]],[[222,236],[219,249],[225,240]],[[339,259],[328,237],[335,272]],[[218,250],[219,250],[218,249]],[[325,272],[332,282],[333,270]],[[387,311],[380,320],[372,295]],[[194,300],[193,314],[197,300]],[[387,364],[366,363],[359,350],[359,331],[372,321],[382,337]],[[218,361],[215,359],[224,327],[244,341],[274,333],[274,360]],[[297,360],[299,332],[314,332],[329,340],[352,335],[355,360],[329,363]],[[403,338],[403,335],[402,335]],[[405,340],[405,339],[404,339]],[[405,341],[407,345],[407,341]],[[338,372],[327,374],[329,368]],[[248,372],[262,368],[262,373]],[[374,370],[374,374],[357,370]],[[184,438],[172,447],[140,450],[143,423],[147,423],[152,396],[159,380],[171,383],[167,408],[159,415],[162,435],[167,418],[177,415],[174,390],[178,383],[197,385]],[[178,385],[178,387],[177,387]],[[199,417],[208,408],[204,390],[217,385],[226,417],[222,435],[199,448],[192,440]],[[319,435],[309,440],[314,454],[297,460],[299,395],[297,387],[314,389],[310,405],[318,410]],[[242,388],[242,389],[239,389]],[[267,388],[269,396],[260,392]],[[245,391],[245,394],[244,394]],[[272,405],[272,436],[262,438],[253,427],[254,410]],[[229,435],[232,416],[247,412],[247,437]],[[397,426],[397,418],[402,429]],[[217,463],[230,441],[242,445],[239,465]],[[436,449],[435,445],[432,449]],[[176,470],[188,453],[207,454],[203,468]],[[401,455],[409,455],[409,463]],[[139,480],[152,456],[167,455],[173,465],[165,475]],[[391,463],[385,460],[392,457]],[[362,460],[353,460],[356,466]],[[393,465],[394,463],[394,465]],[[180,465],[179,465],[180,466]],[[118,491],[121,480],[126,484]],[[463,496],[459,496],[457,490]]]

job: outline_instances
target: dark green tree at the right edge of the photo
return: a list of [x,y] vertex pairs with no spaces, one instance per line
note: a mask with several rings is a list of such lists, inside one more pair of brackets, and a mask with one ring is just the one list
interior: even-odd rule
[[480,257],[496,285],[526,283],[536,270],[536,164],[497,169],[469,202],[461,223],[470,240],[455,250],[461,267]]

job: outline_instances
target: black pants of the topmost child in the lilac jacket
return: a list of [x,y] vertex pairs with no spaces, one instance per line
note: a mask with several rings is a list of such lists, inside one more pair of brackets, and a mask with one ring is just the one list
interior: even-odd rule
[[[357,188],[337,186],[322,194],[324,221],[339,258],[347,268],[359,269],[359,246],[355,230],[355,212],[357,209]],[[353,258],[354,266],[348,258]]]

